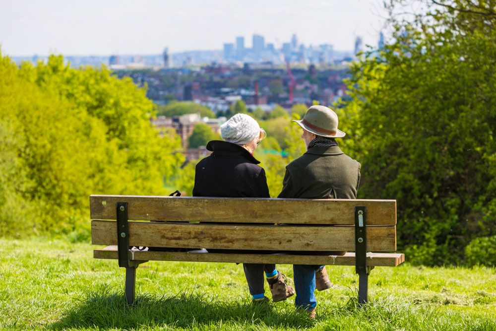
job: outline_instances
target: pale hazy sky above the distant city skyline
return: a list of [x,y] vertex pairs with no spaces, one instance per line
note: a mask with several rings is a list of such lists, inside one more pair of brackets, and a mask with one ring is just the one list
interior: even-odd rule
[[160,54],[220,50],[253,34],[280,48],[377,45],[379,0],[0,0],[0,49],[9,56]]

